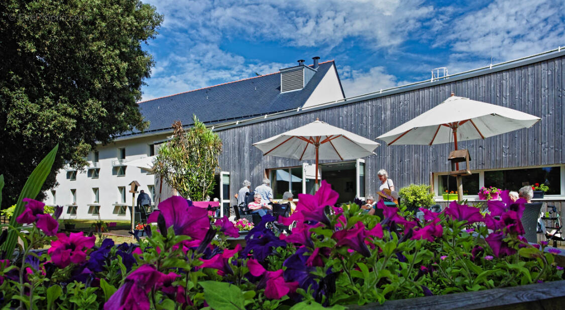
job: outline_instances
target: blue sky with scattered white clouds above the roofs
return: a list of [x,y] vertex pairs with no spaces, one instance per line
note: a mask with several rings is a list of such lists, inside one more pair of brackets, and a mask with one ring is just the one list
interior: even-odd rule
[[146,1],[143,100],[334,59],[346,97],[565,46],[565,0]]

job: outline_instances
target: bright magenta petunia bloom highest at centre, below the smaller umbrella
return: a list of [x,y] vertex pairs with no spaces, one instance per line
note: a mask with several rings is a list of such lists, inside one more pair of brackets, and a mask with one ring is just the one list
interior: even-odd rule
[[332,186],[322,180],[320,189],[315,195],[298,194],[298,203],[294,213],[300,212],[304,220],[323,222],[329,225],[329,219],[324,209],[325,206],[333,207],[337,203],[338,197],[337,191],[332,190]]

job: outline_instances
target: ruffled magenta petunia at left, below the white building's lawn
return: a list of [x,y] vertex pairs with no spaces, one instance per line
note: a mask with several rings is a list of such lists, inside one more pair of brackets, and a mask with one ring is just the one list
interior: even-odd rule
[[86,250],[94,246],[96,237],[85,237],[84,233],[57,234],[57,240],[51,241],[47,254],[53,264],[60,268],[70,263],[80,264],[86,260]]

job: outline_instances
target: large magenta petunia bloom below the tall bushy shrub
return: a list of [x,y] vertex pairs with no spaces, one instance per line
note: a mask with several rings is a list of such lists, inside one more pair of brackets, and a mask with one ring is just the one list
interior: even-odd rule
[[173,226],[176,235],[189,235],[202,241],[210,228],[207,209],[189,206],[180,196],[159,203],[159,210],[151,213],[147,222],[157,222],[159,214],[163,215],[167,228]]

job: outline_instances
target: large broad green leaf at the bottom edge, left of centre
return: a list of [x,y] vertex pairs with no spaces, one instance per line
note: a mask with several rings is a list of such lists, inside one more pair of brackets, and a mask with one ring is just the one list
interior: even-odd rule
[[204,299],[214,309],[245,309],[245,298],[239,287],[230,283],[202,281]]

